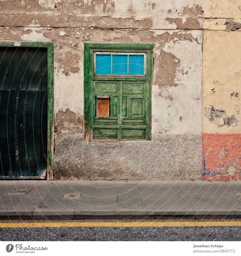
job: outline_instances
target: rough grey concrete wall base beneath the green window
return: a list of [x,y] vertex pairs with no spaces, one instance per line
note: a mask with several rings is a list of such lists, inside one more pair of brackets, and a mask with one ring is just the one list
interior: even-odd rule
[[57,179],[201,180],[202,135],[152,134],[151,141],[91,142],[64,137],[54,153]]

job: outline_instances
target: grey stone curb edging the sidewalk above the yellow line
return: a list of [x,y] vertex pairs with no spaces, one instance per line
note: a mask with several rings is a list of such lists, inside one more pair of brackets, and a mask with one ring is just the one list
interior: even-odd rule
[[241,218],[239,209],[0,209],[0,220],[85,220],[85,219],[234,219]]

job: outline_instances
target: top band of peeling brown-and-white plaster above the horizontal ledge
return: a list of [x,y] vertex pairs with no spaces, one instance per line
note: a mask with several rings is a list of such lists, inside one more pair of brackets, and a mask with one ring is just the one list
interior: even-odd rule
[[2,25],[15,26],[36,22],[52,27],[201,29],[202,3],[203,0],[22,0],[16,4],[15,0],[8,0],[1,3],[0,20]]

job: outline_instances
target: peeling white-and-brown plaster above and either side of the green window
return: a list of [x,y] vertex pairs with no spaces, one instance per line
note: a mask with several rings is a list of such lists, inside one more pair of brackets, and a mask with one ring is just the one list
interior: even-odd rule
[[[5,40],[32,38],[55,45],[55,115],[69,109],[83,116],[83,42],[155,43],[152,133],[200,134],[202,95],[201,30],[100,30],[2,27]],[[61,33],[62,32],[62,33]],[[64,35],[62,35],[64,33]],[[180,120],[180,116],[182,119]]]

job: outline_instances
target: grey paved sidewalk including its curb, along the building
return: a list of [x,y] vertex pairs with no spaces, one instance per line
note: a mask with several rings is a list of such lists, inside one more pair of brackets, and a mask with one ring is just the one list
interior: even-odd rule
[[[12,188],[33,190],[7,194]],[[241,182],[2,180],[0,219],[233,219],[241,217],[233,193],[241,193]]]

